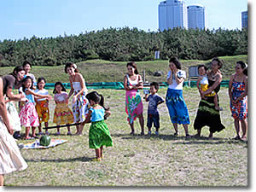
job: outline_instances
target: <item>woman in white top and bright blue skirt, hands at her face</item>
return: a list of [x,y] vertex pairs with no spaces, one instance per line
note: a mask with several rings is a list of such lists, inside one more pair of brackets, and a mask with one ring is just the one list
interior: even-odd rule
[[169,67],[171,70],[167,74],[169,87],[166,93],[166,106],[175,130],[174,136],[178,135],[177,124],[182,124],[186,137],[189,137],[189,111],[183,98],[183,81],[186,73],[181,70],[181,63],[176,57],[170,59]]

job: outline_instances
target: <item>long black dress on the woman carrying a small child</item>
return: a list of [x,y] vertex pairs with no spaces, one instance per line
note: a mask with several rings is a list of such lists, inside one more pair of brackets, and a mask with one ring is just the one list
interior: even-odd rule
[[[215,83],[215,81],[210,79],[208,79],[208,81],[209,86],[212,86],[212,84]],[[218,93],[219,89],[220,84],[218,84],[218,87],[214,90]],[[224,130],[225,126],[221,123],[219,111],[214,107],[214,96],[208,96],[206,99],[201,99],[194,122],[195,130],[201,130],[203,126],[209,126],[210,132],[212,133]]]

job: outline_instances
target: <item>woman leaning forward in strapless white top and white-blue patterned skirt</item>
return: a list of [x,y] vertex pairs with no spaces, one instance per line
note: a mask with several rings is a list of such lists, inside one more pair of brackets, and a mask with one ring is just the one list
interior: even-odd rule
[[69,82],[71,90],[67,96],[67,100],[73,95],[72,109],[75,123],[81,123],[77,126],[77,135],[82,135],[84,129],[84,120],[88,115],[89,102],[86,99],[87,88],[85,81],[77,66],[72,62],[67,62],[65,66],[65,72],[69,74]]

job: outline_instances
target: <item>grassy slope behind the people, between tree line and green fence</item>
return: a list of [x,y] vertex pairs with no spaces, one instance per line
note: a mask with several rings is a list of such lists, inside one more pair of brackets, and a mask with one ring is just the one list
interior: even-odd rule
[[[224,79],[230,79],[230,75],[235,72],[236,61],[246,61],[247,55],[223,56],[219,57],[224,61],[221,71]],[[198,66],[199,64],[209,65],[209,61],[186,60],[181,61],[183,70],[187,72],[190,66]],[[83,74],[84,79],[88,83],[92,82],[123,82],[127,73],[126,61],[102,61],[90,60],[77,63],[79,72]],[[145,71],[145,79],[149,82],[166,82],[166,75],[169,71],[168,61],[138,61],[137,68],[140,74]],[[11,73],[14,67],[1,67],[0,76]],[[155,72],[164,73],[163,76],[155,77]],[[55,83],[61,81],[68,82],[68,75],[64,73],[64,66],[57,67],[38,67],[32,66],[31,73],[38,79],[44,77],[47,83]]]

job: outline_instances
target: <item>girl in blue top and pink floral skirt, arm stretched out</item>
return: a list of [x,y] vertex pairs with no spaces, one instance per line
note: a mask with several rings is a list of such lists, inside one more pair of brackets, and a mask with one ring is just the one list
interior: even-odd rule
[[[20,117],[20,125],[26,127],[25,139],[31,139],[32,137],[36,137],[36,127],[39,125],[38,121],[38,113],[35,108],[35,99],[34,96],[38,98],[47,98],[51,99],[49,95],[39,95],[32,90],[33,81],[30,76],[27,76],[26,79],[22,80],[22,90],[25,93],[25,96],[28,100],[25,106],[20,109],[19,117]],[[29,137],[30,127],[32,126],[32,137]]]

